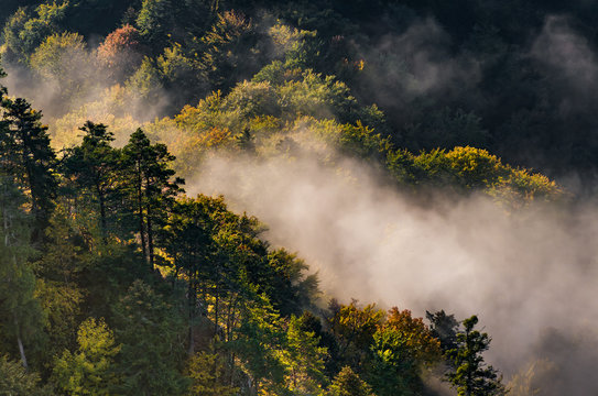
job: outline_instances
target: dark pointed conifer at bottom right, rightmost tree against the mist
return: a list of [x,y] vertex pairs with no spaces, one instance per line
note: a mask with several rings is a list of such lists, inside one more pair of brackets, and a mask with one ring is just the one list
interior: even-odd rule
[[505,395],[504,385],[492,366],[486,366],[481,354],[490,346],[490,337],[474,330],[478,317],[463,321],[464,331],[457,333],[457,348],[447,351],[455,366],[446,377],[459,396]]

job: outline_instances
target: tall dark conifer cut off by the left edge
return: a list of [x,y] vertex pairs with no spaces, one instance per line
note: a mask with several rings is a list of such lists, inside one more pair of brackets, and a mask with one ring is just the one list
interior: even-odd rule
[[19,351],[26,369],[25,345],[37,339],[44,322],[29,261],[36,253],[32,241],[40,241],[50,211],[50,197],[39,194],[50,187],[43,186],[48,176],[44,155],[53,152],[44,146],[45,130],[29,103],[2,98],[2,106],[7,112],[0,121],[0,338],[12,345],[10,351]]

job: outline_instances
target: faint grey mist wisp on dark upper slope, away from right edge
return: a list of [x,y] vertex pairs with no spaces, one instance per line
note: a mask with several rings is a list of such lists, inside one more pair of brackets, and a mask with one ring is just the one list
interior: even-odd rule
[[398,14],[402,16],[395,19],[406,19],[401,33],[356,44],[358,56],[366,61],[361,79],[369,100],[402,113],[413,111],[401,106],[417,98],[453,97],[476,88],[481,79],[480,59],[455,53],[450,35],[435,19],[410,16],[404,10]]

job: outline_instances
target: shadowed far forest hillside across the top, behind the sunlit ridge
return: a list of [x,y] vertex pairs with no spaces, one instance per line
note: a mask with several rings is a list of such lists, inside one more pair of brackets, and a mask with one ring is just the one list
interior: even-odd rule
[[[97,90],[89,75],[65,65],[85,50],[72,36],[78,34],[89,52],[80,62],[104,65],[100,79],[91,66],[94,82],[120,84],[119,96],[160,103],[157,114],[172,116],[213,90],[227,95],[260,70],[257,82],[336,76],[362,105],[384,111],[377,130],[402,148],[470,145],[551,176],[578,173],[589,185],[598,157],[595,8],[583,1],[9,1],[0,20],[4,62],[56,76],[62,100],[76,99],[62,107],[63,116],[73,110],[70,119],[99,110],[78,110],[86,92]],[[115,100],[110,92],[91,102]],[[118,118],[122,107],[116,107],[99,112]],[[134,106],[127,113],[148,116]]]

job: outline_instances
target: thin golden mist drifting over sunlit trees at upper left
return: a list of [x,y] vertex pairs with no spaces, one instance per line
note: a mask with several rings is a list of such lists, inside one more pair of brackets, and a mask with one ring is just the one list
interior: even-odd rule
[[9,95],[26,98],[42,111],[55,148],[76,144],[87,120],[109,125],[120,146],[144,122],[167,116],[172,92],[155,86],[152,95],[145,95],[128,80],[132,65],[141,63],[140,53],[115,51],[109,67],[98,55],[97,43],[88,46],[81,36],[68,37],[51,50],[50,59],[43,52],[36,62],[34,54],[29,66],[2,59],[7,72],[2,85]]

